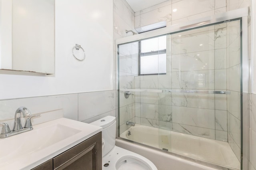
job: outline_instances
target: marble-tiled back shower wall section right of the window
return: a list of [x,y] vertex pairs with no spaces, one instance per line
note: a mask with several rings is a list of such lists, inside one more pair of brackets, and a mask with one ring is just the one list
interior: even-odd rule
[[[176,34],[172,39],[172,49],[176,49],[172,50],[172,89],[226,90],[226,69],[215,63],[215,51],[226,50],[225,31],[226,24],[220,24]],[[215,101],[222,103],[219,100],[226,98],[215,96],[173,93],[172,105],[177,107],[172,107],[173,130],[227,141],[226,112],[215,110]]]

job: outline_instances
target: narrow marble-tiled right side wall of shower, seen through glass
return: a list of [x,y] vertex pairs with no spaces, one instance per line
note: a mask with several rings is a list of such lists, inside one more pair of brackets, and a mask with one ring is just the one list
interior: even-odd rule
[[227,24],[228,143],[238,160],[241,155],[240,22]]

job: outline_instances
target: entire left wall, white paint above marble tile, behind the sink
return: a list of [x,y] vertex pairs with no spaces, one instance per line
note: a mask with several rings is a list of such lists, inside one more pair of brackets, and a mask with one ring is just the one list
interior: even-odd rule
[[[76,43],[83,62],[72,56]],[[112,0],[55,0],[55,73],[0,71],[0,122],[21,106],[87,123],[114,116],[113,63]]]

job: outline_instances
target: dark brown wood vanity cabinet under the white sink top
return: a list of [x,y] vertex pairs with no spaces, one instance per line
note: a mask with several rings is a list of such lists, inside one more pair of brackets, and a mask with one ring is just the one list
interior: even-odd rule
[[33,170],[102,170],[101,132]]

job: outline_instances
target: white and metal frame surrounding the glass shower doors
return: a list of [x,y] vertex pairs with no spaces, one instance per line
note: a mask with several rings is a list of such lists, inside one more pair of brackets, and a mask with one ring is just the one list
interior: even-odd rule
[[[244,105],[245,103],[243,103],[242,99],[244,98],[246,99],[246,94],[249,93],[249,88],[248,88],[248,83],[249,83],[249,73],[250,73],[250,68],[249,68],[249,63],[248,63],[248,16],[249,16],[249,9],[248,8],[241,8],[238,10],[233,10],[233,11],[229,11],[229,12],[225,12],[225,13],[221,13],[221,14],[216,14],[214,16],[208,16],[208,17],[204,17],[204,18],[200,18],[197,20],[192,20],[192,21],[188,21],[186,23],[181,23],[181,24],[176,24],[173,26],[168,26],[166,28],[161,28],[158,30],[153,30],[150,32],[145,32],[142,34],[136,34],[134,36],[128,36],[125,38],[120,38],[118,40],[115,41],[115,48],[116,51],[118,50],[118,45],[119,44],[125,44],[125,43],[131,43],[131,42],[136,42],[139,40],[145,40],[147,38],[153,38],[153,37],[157,37],[157,36],[161,36],[161,35],[165,35],[165,34],[174,34],[174,33],[178,33],[178,32],[182,32],[184,30],[192,30],[192,29],[196,29],[196,28],[201,28],[204,26],[209,26],[209,25],[214,25],[216,23],[223,23],[223,22],[229,22],[231,20],[240,20],[240,28],[241,28],[241,37],[242,37],[242,41],[241,43],[241,69],[240,69],[240,73],[241,73],[241,170],[242,170],[242,164],[243,164],[243,123],[248,123],[248,120],[243,120],[243,113],[248,112],[248,106]],[[244,50],[243,50],[244,49]],[[118,55],[118,54],[117,54]],[[119,108],[119,95],[120,95],[120,91],[119,91],[119,63],[118,63],[118,59],[116,57],[116,85],[117,85],[117,97],[118,97],[118,114],[116,114],[117,120],[118,120],[118,125],[117,125],[117,138],[118,139],[122,139],[122,140],[126,140],[124,138],[120,138],[118,136],[118,134],[120,134],[120,120],[119,120],[119,113],[120,113],[120,108]],[[248,114],[248,113],[247,113]],[[246,122],[245,122],[246,121]],[[129,142],[133,142],[130,140],[127,140]],[[137,142],[133,142],[136,144],[140,144]],[[146,146],[149,148],[153,148],[156,150],[161,150],[160,148],[154,148],[148,145],[144,145],[144,144],[140,144],[142,146]],[[206,162],[203,160],[198,160],[196,158],[190,158],[187,156],[183,156],[180,154],[176,154],[173,152],[166,152],[164,150],[162,150],[165,153],[174,155],[174,156],[178,156],[180,158],[186,159],[186,160],[190,160],[192,162],[196,162],[199,164],[203,164],[206,166],[210,166],[213,168],[218,168],[218,169],[222,169],[222,170],[231,170],[230,168],[225,168],[223,166],[214,164],[214,163],[210,163],[210,162]]]

